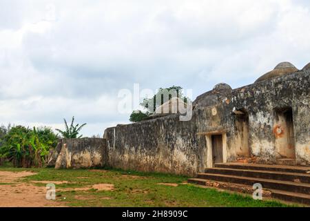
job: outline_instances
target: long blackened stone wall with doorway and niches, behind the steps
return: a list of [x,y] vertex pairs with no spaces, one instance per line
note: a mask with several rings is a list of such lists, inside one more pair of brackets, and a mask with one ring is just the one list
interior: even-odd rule
[[[280,133],[286,130],[278,125],[276,111],[291,108],[296,163],[310,164],[309,85],[309,73],[299,71],[235,90],[205,93],[194,102],[189,122],[168,115],[107,128],[105,163],[121,169],[192,175],[214,165],[211,135],[221,134],[223,162],[251,156],[276,164],[281,157],[276,148],[278,127]],[[241,132],[240,125],[247,120],[241,124],[238,112],[248,117],[248,126]],[[242,145],[246,140],[248,151]]]

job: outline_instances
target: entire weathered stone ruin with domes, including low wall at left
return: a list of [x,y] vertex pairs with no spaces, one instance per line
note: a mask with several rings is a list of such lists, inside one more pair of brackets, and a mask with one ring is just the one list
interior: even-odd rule
[[[180,113],[107,128],[103,139],[62,140],[50,166],[110,166],[195,175],[216,163],[310,164],[310,64],[276,66],[254,84],[218,84]],[[168,104],[170,105],[170,104]]]

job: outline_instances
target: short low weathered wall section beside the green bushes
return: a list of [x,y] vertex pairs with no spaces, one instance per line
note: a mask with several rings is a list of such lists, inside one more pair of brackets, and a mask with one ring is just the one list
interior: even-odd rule
[[48,166],[55,169],[103,166],[105,144],[99,138],[63,139],[53,151]]

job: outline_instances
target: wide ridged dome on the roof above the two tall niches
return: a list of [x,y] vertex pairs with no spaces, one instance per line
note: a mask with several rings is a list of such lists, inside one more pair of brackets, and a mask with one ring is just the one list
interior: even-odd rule
[[283,75],[289,75],[291,73],[295,73],[298,71],[298,69],[293,66],[293,64],[289,62],[282,62],[276,66],[273,70],[271,70],[269,73],[266,73],[265,75],[262,75],[262,77],[258,78],[255,83],[260,81],[265,81],[267,79],[272,79],[274,77],[280,77]]

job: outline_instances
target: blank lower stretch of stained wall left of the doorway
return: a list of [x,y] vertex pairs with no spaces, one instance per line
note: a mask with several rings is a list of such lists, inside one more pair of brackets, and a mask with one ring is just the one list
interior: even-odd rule
[[[196,125],[170,115],[105,131],[107,164],[121,169],[195,173],[200,160]],[[200,145],[202,146],[202,145]]]

